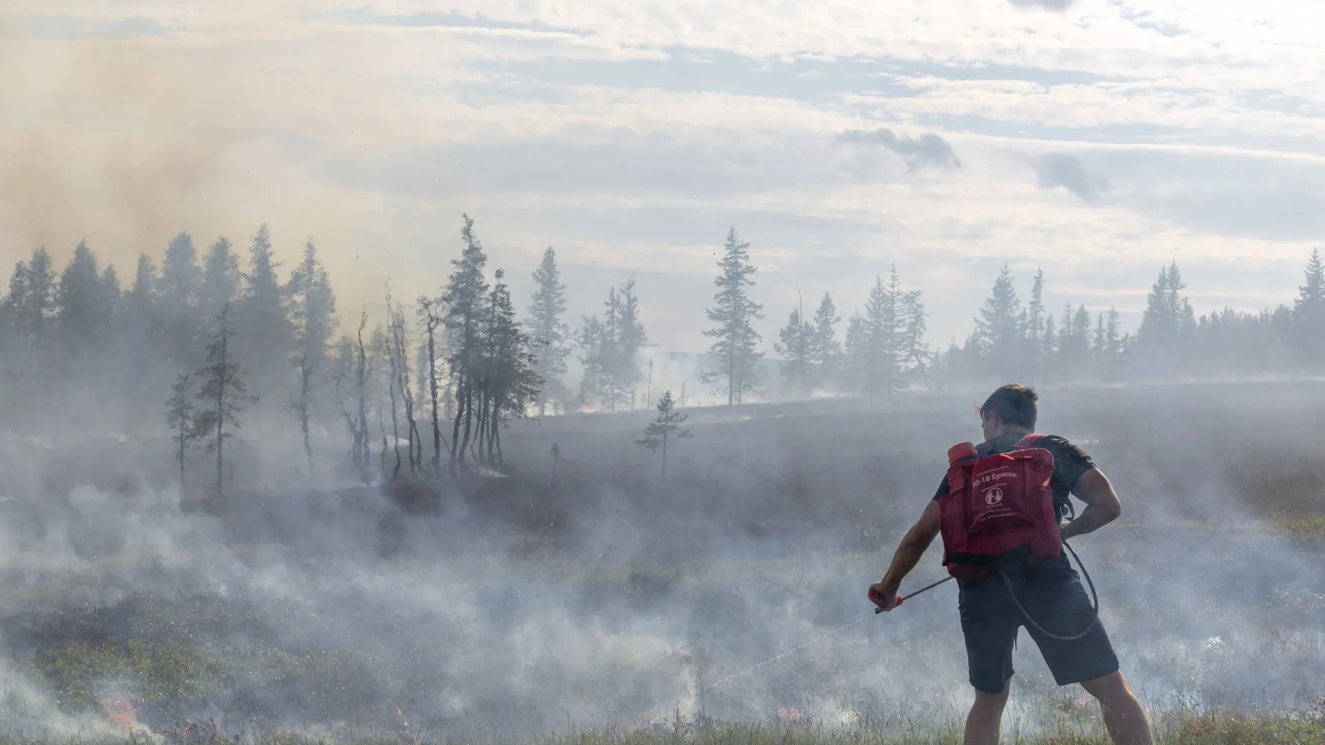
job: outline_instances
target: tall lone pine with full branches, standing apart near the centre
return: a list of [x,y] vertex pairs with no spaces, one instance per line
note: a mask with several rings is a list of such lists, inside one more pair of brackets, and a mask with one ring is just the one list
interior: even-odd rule
[[759,383],[757,365],[763,357],[757,351],[761,337],[751,322],[763,318],[761,305],[750,300],[746,288],[754,286],[750,277],[757,272],[750,262],[750,244],[737,237],[735,228],[727,231],[718,261],[719,274],[714,280],[718,292],[714,306],[708,310],[709,321],[717,323],[704,331],[716,339],[709,353],[717,358],[718,369],[701,376],[705,383],[726,386],[727,406],[741,403],[746,394],[755,392]]

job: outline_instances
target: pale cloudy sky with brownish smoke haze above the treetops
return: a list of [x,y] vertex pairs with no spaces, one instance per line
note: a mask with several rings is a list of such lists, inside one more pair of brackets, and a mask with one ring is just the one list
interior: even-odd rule
[[772,353],[896,265],[930,342],[1006,264],[1136,327],[1177,261],[1198,313],[1289,302],[1325,236],[1325,4],[1260,0],[268,0],[0,5],[0,260],[86,239],[122,277],[171,235],[341,310],[436,294],[461,213],[522,304],[635,277],[701,350],[729,228]]

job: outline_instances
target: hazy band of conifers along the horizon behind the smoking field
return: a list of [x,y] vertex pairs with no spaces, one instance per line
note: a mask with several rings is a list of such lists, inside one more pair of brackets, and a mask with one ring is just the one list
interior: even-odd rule
[[[86,241],[58,273],[46,249],[37,248],[17,262],[0,301],[0,378],[11,403],[41,402],[54,390],[70,402],[159,408],[164,400],[180,467],[203,448],[216,459],[217,487],[245,411],[284,418],[298,432],[310,475],[317,468],[313,432],[338,423],[346,461],[371,481],[502,468],[501,432],[513,419],[652,400],[649,341],[633,278],[610,288],[602,313],[572,329],[554,249],[534,268],[534,292],[521,313],[505,272],[489,270],[469,216],[462,216],[460,248],[436,293],[405,304],[388,290],[383,317],[364,310],[352,331],[341,329],[313,240],[281,281],[265,224],[249,239],[246,260],[225,237],[200,252],[182,232],[159,266],[147,255],[138,258],[127,288]],[[1170,264],[1136,333],[1121,329],[1116,309],[1045,308],[1043,270],[1023,304],[1004,266],[971,333],[946,349],[928,343],[922,293],[893,266],[873,280],[844,327],[831,294],[812,313],[798,300],[772,343],[779,380],[761,379],[765,350],[754,325],[763,308],[750,297],[758,270],[734,228],[717,264],[704,331],[708,363],[697,382],[729,404],[823,392],[872,406],[914,387],[1318,372],[1325,363],[1318,252],[1293,305],[1259,313],[1196,317],[1182,273]],[[578,384],[567,380],[572,357]],[[682,383],[680,402],[670,392],[659,402],[666,411],[651,445],[657,440],[665,448],[668,418],[684,399]]]

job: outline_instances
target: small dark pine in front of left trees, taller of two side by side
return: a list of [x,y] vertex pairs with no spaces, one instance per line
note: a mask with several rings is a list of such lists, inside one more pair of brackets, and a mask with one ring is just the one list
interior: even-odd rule
[[216,493],[220,494],[225,475],[225,443],[235,439],[231,430],[240,428],[238,415],[244,404],[257,403],[257,398],[248,395],[244,372],[235,361],[229,304],[221,306],[215,327],[207,345],[207,365],[197,371],[201,379],[197,399],[204,407],[193,419],[193,430],[199,437],[207,437],[207,452],[216,455]]

